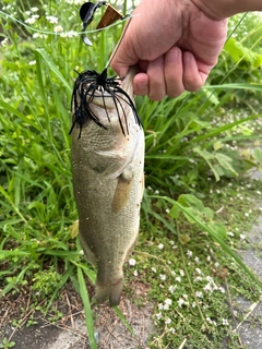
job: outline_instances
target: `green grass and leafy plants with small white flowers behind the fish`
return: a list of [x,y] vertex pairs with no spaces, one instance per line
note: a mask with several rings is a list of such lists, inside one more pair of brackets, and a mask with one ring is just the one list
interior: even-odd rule
[[[70,99],[74,70],[102,71],[122,24],[87,34],[93,47],[86,48],[79,35],[79,1],[44,1],[39,10],[24,1],[2,2],[1,296],[27,287],[36,301],[47,298],[47,311],[71,280],[83,299],[90,344],[96,348],[85,284],[94,284],[95,270],[74,234]],[[136,98],[145,131],[146,190],[136,267],[130,263],[127,279],[151,284],[158,328],[152,348],[186,340],[194,348],[217,349],[225,337],[239,348],[226,301],[237,294],[259,297],[260,281],[234,250],[259,214],[250,206],[261,193],[252,183],[252,195],[243,201],[241,174],[262,168],[262,21],[254,14],[236,16],[230,32],[200,92],[162,103]],[[238,209],[230,207],[230,198]],[[222,214],[221,207],[226,207]],[[5,338],[2,347],[12,342]]]

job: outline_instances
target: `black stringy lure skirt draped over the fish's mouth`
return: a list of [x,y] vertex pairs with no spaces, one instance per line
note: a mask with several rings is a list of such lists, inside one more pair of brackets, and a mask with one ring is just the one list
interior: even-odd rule
[[[127,106],[131,108],[135,122],[141,127],[141,120],[134,103],[129,96],[128,89],[130,86],[132,86],[130,74],[126,79],[107,77],[107,68],[100,74],[95,70],[86,70],[79,73],[71,99],[73,122],[69,134],[71,134],[75,125],[79,125],[79,139],[81,139],[82,128],[88,120],[93,120],[98,127],[107,129],[91,108],[91,104],[103,107],[109,122],[110,116],[108,110],[116,108],[118,121],[124,136],[129,134]],[[121,112],[123,113],[123,118],[120,117]]]

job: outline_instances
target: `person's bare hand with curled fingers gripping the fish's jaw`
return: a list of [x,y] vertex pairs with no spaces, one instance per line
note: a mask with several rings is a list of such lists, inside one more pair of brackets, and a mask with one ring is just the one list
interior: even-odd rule
[[199,89],[216,64],[227,20],[210,19],[191,0],[142,0],[124,33],[111,68],[126,76],[136,64],[136,95],[153,100]]

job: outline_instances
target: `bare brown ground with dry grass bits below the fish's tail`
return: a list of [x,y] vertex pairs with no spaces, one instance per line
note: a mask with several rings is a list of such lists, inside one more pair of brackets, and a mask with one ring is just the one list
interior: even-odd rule
[[[133,286],[135,287],[135,297],[144,297],[147,288],[139,282]],[[63,291],[61,300],[53,304],[52,311],[46,317],[39,311],[34,314],[32,311],[26,311],[29,309],[31,302],[32,294],[8,296],[1,300],[0,342],[5,337],[15,342],[15,349],[35,349],[36,347],[37,349],[90,348],[82,301],[73,288]],[[12,323],[10,320],[15,318],[15,315],[19,316],[19,314],[21,318],[22,309],[24,309],[25,315],[17,326],[17,323]],[[130,323],[135,336],[124,327],[112,309],[107,305],[96,306],[94,308],[95,335],[99,349],[145,349],[153,327],[151,321],[153,306],[144,302],[139,308],[123,296],[119,309]],[[59,315],[59,312],[66,315],[52,324],[49,318],[56,313]],[[37,323],[32,324],[32,321]]]

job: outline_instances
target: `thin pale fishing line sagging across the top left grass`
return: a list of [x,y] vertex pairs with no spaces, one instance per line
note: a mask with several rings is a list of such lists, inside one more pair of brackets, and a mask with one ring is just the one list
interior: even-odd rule
[[[26,29],[32,31],[32,32],[36,32],[36,33],[40,33],[40,34],[47,34],[47,35],[53,35],[53,36],[55,36],[55,35],[56,35],[56,36],[57,36],[57,35],[62,36],[62,35],[64,35],[64,34],[69,33],[69,31],[68,31],[68,32],[63,31],[63,32],[58,32],[58,33],[57,33],[57,32],[49,32],[49,31],[37,29],[37,28],[34,28],[33,26],[29,26],[29,25],[25,24],[24,22],[15,19],[15,17],[13,17],[12,15],[10,15],[10,14],[3,12],[3,11],[0,11],[0,15],[1,15],[2,17],[8,17],[8,19],[12,20],[13,22],[21,24],[21,25],[24,26]],[[85,31],[85,33],[87,33],[87,34],[93,34],[93,33],[97,33],[97,32],[102,32],[102,31],[109,29],[110,27],[114,27],[114,26],[116,26],[116,25],[119,25],[121,22],[124,22],[124,21],[127,21],[127,20],[130,20],[130,19],[132,19],[133,16],[136,16],[136,15],[138,15],[138,14],[135,14],[135,15],[127,14],[127,16],[124,16],[124,19],[122,19],[121,21],[115,22],[115,23],[112,23],[112,24],[110,24],[110,25],[108,25],[108,26],[105,26],[105,27],[103,27],[103,28],[99,28],[99,29]],[[76,36],[76,35],[83,35],[83,32],[74,32],[74,35],[75,35],[75,36]]]

